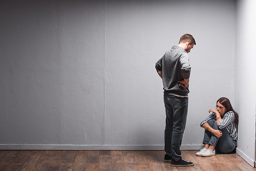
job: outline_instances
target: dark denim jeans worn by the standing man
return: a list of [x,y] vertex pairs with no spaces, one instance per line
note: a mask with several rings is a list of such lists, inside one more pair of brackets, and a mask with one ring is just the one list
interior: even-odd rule
[[164,94],[165,131],[164,151],[172,155],[174,160],[180,160],[181,141],[187,119],[188,98]]

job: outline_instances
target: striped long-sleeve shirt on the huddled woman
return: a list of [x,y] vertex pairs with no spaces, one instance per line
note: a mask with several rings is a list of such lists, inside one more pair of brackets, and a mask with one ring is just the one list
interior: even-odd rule
[[[236,116],[234,115],[234,113],[232,111],[229,111],[227,113],[225,113],[224,117],[220,120],[220,122],[218,123],[218,127],[220,129],[223,129],[224,127],[226,127],[230,137],[232,138],[232,140],[237,140],[237,126],[234,123],[234,118]],[[210,119],[217,119],[217,116],[215,113],[211,113],[207,118],[205,118],[201,123],[200,126],[202,127],[202,125],[204,123],[207,123],[208,120]]]

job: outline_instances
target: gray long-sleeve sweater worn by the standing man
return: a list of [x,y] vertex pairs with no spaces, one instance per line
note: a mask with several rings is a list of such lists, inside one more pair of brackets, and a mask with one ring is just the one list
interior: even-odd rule
[[188,96],[188,86],[180,87],[177,80],[188,79],[190,64],[188,53],[181,47],[173,46],[156,63],[157,72],[162,71],[164,94]]

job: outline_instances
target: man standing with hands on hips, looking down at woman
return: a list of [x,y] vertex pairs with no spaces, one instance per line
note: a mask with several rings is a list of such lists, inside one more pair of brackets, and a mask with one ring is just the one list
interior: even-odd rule
[[190,34],[181,36],[179,45],[165,52],[156,63],[163,80],[166,124],[164,131],[164,161],[171,166],[193,166],[181,157],[181,141],[185,130],[188,109],[188,82],[190,64],[188,53],[196,45]]

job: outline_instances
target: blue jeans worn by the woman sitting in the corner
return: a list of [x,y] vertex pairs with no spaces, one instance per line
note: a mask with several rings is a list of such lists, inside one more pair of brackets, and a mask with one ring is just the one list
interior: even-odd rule
[[211,144],[216,148],[219,148],[216,150],[219,150],[220,153],[231,153],[234,148],[236,148],[236,141],[231,139],[226,127],[219,129],[217,122],[213,119],[208,120],[208,124],[213,129],[220,130],[222,132],[222,136],[218,138],[214,135],[214,133],[205,130],[203,143]]

